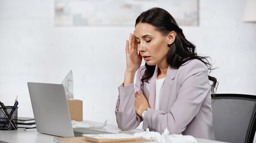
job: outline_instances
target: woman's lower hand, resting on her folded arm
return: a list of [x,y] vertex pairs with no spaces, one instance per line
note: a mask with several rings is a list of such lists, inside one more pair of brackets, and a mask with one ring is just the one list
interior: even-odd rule
[[144,97],[143,94],[140,92],[135,92],[135,111],[138,114],[138,116],[142,117],[142,113],[144,110],[147,110],[147,108],[150,108],[149,102],[147,102],[147,98]]

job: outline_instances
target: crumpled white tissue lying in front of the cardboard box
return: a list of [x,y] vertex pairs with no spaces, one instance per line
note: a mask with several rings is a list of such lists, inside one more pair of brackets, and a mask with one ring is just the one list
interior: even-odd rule
[[77,122],[71,121],[73,128],[88,128],[88,129],[101,129],[107,125],[107,120],[104,123],[95,123],[89,121]]

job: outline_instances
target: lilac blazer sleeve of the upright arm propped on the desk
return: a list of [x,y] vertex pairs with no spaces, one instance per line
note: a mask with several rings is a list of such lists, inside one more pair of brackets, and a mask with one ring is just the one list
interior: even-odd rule
[[135,129],[140,125],[142,121],[141,117],[135,112],[135,91],[143,93],[141,89],[141,68],[137,70],[137,79],[135,83],[131,83],[124,87],[124,84],[118,87],[119,95],[118,101],[116,101],[116,122],[118,123],[118,128],[122,130]]

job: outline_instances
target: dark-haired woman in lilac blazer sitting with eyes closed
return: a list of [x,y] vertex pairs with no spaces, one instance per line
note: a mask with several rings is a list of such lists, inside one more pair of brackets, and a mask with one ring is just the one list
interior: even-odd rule
[[[125,52],[127,69],[115,111],[120,129],[135,129],[143,121],[145,130],[162,133],[167,128],[170,133],[215,139],[210,91],[216,79],[208,74],[211,65],[197,55],[167,11],[141,13]],[[142,58],[146,63],[140,67]]]

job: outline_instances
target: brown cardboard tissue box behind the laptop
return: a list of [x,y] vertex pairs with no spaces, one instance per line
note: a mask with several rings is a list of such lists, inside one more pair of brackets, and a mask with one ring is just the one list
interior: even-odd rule
[[70,108],[71,120],[83,121],[83,101],[68,100],[68,108]]

